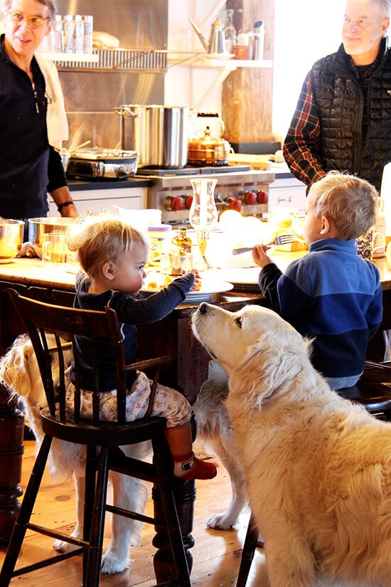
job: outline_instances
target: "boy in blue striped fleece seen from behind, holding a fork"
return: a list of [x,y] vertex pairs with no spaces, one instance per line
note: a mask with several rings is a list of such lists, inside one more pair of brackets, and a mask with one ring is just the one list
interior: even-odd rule
[[375,224],[377,191],[368,181],[336,172],[311,186],[303,236],[309,253],[283,274],[257,245],[262,294],[303,336],[314,339],[312,362],[331,388],[355,385],[368,340],[382,319],[380,275],[360,258],[355,239]]

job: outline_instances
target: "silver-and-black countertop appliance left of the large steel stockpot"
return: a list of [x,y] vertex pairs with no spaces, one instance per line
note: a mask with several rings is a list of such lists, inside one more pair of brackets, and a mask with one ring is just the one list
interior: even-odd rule
[[69,177],[127,179],[137,171],[138,153],[122,149],[78,149],[68,163]]

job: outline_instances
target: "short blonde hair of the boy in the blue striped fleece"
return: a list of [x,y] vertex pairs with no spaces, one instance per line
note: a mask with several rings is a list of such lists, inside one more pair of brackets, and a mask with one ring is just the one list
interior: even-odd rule
[[375,225],[379,196],[365,179],[330,171],[309,190],[317,218],[326,216],[340,240],[354,240]]

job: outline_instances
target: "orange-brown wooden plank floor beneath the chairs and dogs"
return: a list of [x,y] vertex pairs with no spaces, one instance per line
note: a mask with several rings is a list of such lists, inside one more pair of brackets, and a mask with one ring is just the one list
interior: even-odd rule
[[[25,443],[23,457],[23,478],[21,487],[26,487],[26,481],[31,472],[35,451],[35,442],[28,440]],[[73,482],[63,482],[53,485],[50,476],[45,475],[43,486],[34,513],[34,522],[50,525],[72,532],[75,524],[75,499]],[[197,482],[197,499],[195,502],[195,519],[193,536],[195,546],[193,554],[193,571],[191,573],[193,587],[229,587],[235,586],[237,571],[240,564],[242,544],[248,522],[248,513],[242,514],[240,523],[230,532],[217,532],[205,528],[208,517],[215,512],[223,511],[230,498],[230,481],[223,465],[219,466],[218,476],[211,481]],[[148,504],[151,512],[151,502]],[[110,525],[107,517],[105,543],[109,539]],[[127,571],[114,575],[102,575],[102,587],[150,587],[154,584],[153,555],[154,547],[151,539],[153,529],[145,526],[141,546],[132,547],[130,552],[131,564]],[[25,565],[40,557],[48,556],[52,549],[53,539],[28,532],[23,544],[18,566]],[[4,551],[0,550],[0,564],[4,559]],[[19,587],[77,587],[81,576],[80,557],[55,564],[54,566],[27,575],[19,576],[11,581],[11,586]],[[252,572],[247,587],[267,587],[265,578],[264,557],[257,551],[252,564]]]

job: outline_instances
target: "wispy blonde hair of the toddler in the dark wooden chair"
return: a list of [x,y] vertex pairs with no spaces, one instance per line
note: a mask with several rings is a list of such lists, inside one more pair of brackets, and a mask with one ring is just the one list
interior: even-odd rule
[[131,252],[136,245],[149,251],[146,236],[118,218],[88,223],[81,231],[68,235],[67,244],[70,250],[77,251],[79,263],[90,277],[99,275],[105,263],[117,263],[120,255]]

